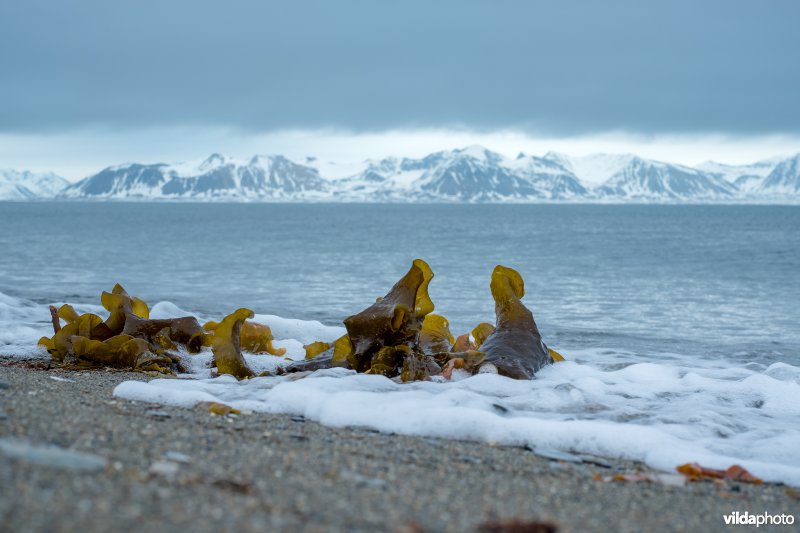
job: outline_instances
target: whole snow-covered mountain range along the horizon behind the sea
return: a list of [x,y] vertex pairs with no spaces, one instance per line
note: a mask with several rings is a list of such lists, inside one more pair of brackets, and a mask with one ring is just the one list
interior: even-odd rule
[[212,154],[199,163],[108,167],[76,183],[53,174],[0,172],[0,199],[343,202],[800,203],[800,154],[696,167],[632,154],[572,157],[481,146],[422,158],[340,165],[281,155]]

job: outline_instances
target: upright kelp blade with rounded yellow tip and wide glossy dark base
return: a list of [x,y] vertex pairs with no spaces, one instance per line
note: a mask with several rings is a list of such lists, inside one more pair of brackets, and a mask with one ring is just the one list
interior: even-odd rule
[[553,362],[542,342],[533,314],[523,305],[522,276],[516,270],[496,266],[492,272],[497,329],[480,347],[486,354],[482,370],[515,379],[531,379],[543,366]]

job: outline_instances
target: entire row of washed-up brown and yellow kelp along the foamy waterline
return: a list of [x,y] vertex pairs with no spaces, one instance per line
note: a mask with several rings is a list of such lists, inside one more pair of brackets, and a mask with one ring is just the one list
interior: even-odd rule
[[[433,271],[415,259],[389,292],[344,320],[347,333],[332,343],[305,346],[306,359],[278,369],[278,374],[343,367],[380,374],[403,382],[442,375],[455,369],[491,372],[531,379],[543,366],[563,358],[542,342],[531,312],[521,299],[524,282],[514,269],[497,266],[490,283],[495,325],[482,322],[470,333],[454,337],[447,319],[433,314],[428,295]],[[104,321],[78,315],[64,305],[53,315],[53,337],[43,337],[53,361],[80,367],[118,367],[172,373],[185,371],[179,352],[211,348],[220,374],[238,379],[255,376],[242,351],[282,356],[273,346],[270,328],[251,322],[253,312],[238,309],[219,322],[201,326],[194,317],[153,320],[147,304],[116,285],[101,297],[109,312]],[[66,325],[61,326],[61,320]]]

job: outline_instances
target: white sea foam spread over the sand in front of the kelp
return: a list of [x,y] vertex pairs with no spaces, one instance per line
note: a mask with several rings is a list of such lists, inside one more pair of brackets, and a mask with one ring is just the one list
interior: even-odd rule
[[398,384],[333,369],[296,381],[128,381],[114,395],[185,407],[211,400],[336,427],[573,450],[665,471],[694,461],[738,463],[766,480],[800,485],[800,368],[618,368],[615,355],[583,351],[582,363],[553,365],[532,381],[479,374]]

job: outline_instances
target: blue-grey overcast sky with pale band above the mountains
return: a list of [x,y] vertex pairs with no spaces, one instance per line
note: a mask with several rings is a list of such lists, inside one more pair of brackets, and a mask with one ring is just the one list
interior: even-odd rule
[[[800,151],[800,2],[0,3],[0,167]],[[509,153],[508,155],[513,155]]]

